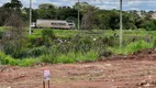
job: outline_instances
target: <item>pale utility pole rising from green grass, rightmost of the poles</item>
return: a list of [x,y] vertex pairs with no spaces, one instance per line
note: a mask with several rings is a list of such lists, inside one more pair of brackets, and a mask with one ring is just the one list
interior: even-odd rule
[[122,47],[122,31],[123,24],[122,24],[122,0],[120,0],[120,47]]

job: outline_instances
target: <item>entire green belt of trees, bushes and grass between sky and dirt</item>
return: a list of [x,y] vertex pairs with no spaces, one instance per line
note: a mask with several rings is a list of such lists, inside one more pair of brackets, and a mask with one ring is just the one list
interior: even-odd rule
[[[87,2],[70,7],[51,3],[33,9],[32,20],[74,20],[80,7],[81,30],[33,29],[26,35],[29,8],[22,9],[19,0],[0,7],[0,64],[30,66],[36,63],[77,63],[103,59],[112,54],[131,54],[138,50],[156,47],[156,20],[152,13],[123,11],[123,47],[119,48],[119,11],[101,10]],[[103,15],[104,14],[104,15]],[[9,16],[9,18],[8,18]]]

